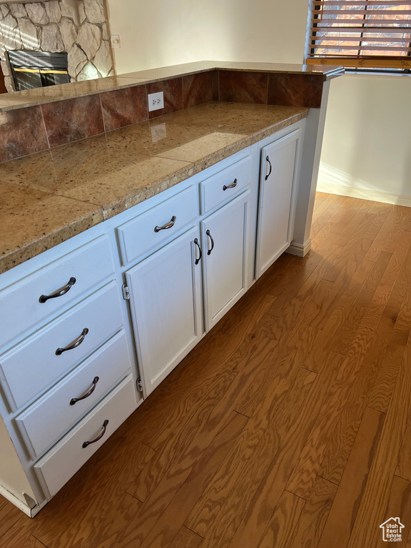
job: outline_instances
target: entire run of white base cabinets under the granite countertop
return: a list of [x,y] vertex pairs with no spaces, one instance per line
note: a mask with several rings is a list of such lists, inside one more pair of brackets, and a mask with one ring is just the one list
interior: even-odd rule
[[288,248],[302,134],[260,186],[255,143],[1,275],[1,494],[36,514]]

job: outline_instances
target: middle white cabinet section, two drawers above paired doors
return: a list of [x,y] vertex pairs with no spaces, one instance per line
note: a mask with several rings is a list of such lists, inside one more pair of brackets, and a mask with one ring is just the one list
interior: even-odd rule
[[[146,245],[146,252],[155,249],[148,257],[141,253],[138,264],[125,273],[146,396],[248,289],[250,255],[255,253],[249,237],[252,165],[249,151],[228,158],[118,228],[128,241],[141,242],[141,249]],[[187,231],[157,249],[153,228],[166,219],[175,221],[163,225],[162,238],[169,240],[178,219],[181,226],[188,224]],[[122,256],[125,244],[123,239]]]

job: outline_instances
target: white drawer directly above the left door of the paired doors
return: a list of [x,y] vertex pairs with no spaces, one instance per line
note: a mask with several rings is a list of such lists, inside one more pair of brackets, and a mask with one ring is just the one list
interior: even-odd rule
[[173,238],[197,216],[198,191],[196,186],[191,186],[119,226],[117,234],[123,265]]

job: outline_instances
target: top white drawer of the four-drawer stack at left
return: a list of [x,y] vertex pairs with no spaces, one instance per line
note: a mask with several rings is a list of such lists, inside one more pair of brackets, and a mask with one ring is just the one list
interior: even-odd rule
[[[102,236],[1,290],[0,347],[111,273],[110,243]],[[59,292],[61,296],[45,300]]]

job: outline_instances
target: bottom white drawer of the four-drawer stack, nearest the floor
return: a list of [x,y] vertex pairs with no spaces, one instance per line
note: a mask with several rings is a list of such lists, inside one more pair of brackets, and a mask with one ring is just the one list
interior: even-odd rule
[[[46,497],[53,497],[136,407],[133,377],[128,376],[34,465]],[[98,441],[83,447],[84,442],[100,436]]]

